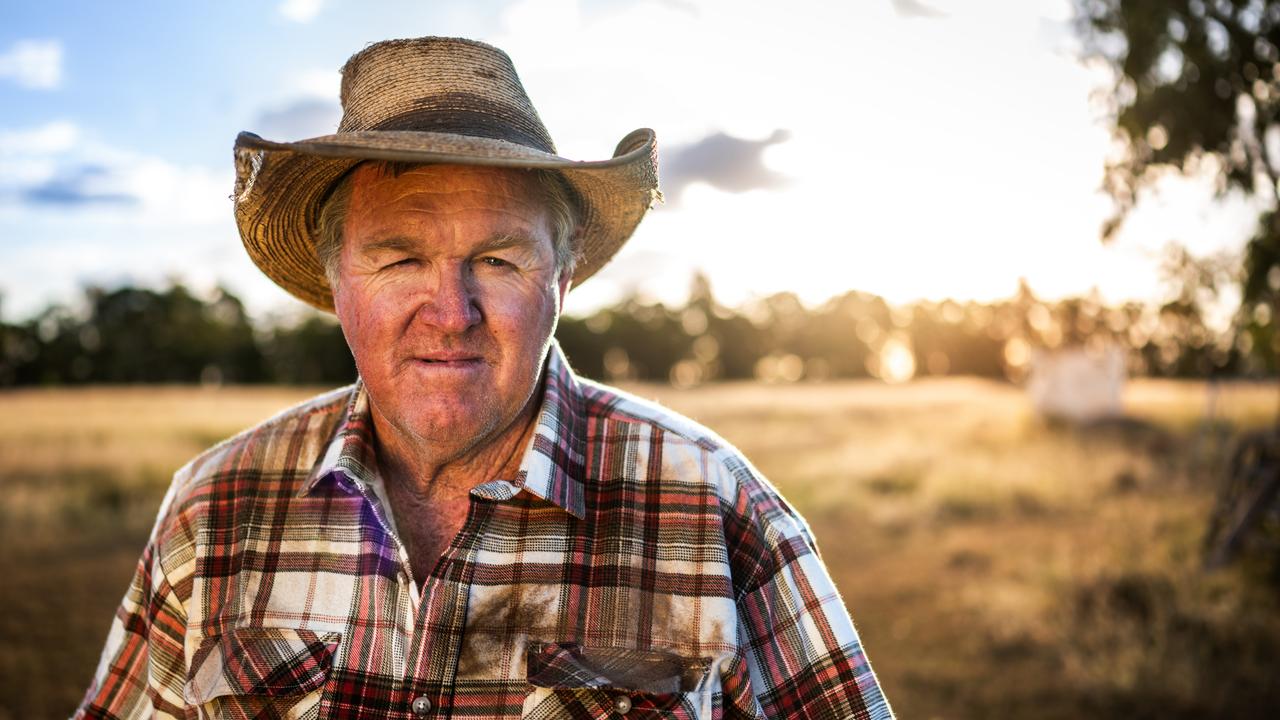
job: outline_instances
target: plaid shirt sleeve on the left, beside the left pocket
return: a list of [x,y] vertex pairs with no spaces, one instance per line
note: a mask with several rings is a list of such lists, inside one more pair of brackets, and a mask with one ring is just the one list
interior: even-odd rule
[[129,588],[111,620],[97,670],[73,716],[186,717],[184,639],[187,612],[161,562],[159,551],[165,509],[151,534]]

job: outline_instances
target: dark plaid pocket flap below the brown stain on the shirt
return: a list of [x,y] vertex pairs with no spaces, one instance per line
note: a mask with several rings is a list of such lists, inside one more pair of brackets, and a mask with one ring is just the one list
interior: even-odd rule
[[660,650],[529,644],[529,683],[539,688],[609,688],[641,693],[700,689],[709,657],[690,659]]

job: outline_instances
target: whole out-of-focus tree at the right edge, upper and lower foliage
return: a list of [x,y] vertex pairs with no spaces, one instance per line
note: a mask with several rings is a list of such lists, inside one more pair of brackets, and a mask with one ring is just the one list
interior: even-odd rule
[[[1258,218],[1240,273],[1236,331],[1271,370],[1280,351],[1280,0],[1075,0],[1085,54],[1107,63],[1115,137],[1105,188],[1116,213],[1161,170],[1211,172],[1270,208]],[[1260,310],[1263,307],[1263,310]],[[1263,340],[1263,342],[1252,342]]]

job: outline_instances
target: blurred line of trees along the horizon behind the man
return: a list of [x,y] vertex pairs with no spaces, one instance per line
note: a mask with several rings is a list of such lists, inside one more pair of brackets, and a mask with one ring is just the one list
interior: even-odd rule
[[[744,307],[718,304],[696,278],[678,307],[626,300],[586,318],[562,318],[557,336],[593,378],[796,382],[908,379],[965,374],[1019,379],[1037,348],[1107,345],[1128,352],[1133,374],[1262,375],[1276,372],[1277,338],[1258,309],[1226,332],[1197,302],[1103,306],[1080,297],[1038,300],[1028,287],[995,304],[890,306],[849,292],[818,307],[781,293]],[[78,307],[55,305],[0,323],[0,386],[83,383],[351,382],[356,369],[328,315],[255,324],[225,290],[202,297],[164,290],[88,288]]]

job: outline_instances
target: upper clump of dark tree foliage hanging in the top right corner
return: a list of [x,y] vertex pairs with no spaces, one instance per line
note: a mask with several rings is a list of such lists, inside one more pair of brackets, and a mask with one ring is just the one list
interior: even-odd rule
[[1224,187],[1253,192],[1276,170],[1265,136],[1280,117],[1275,63],[1280,3],[1078,0],[1088,53],[1115,70],[1111,111],[1126,152],[1107,190],[1128,211],[1156,167],[1193,170],[1212,158]]

